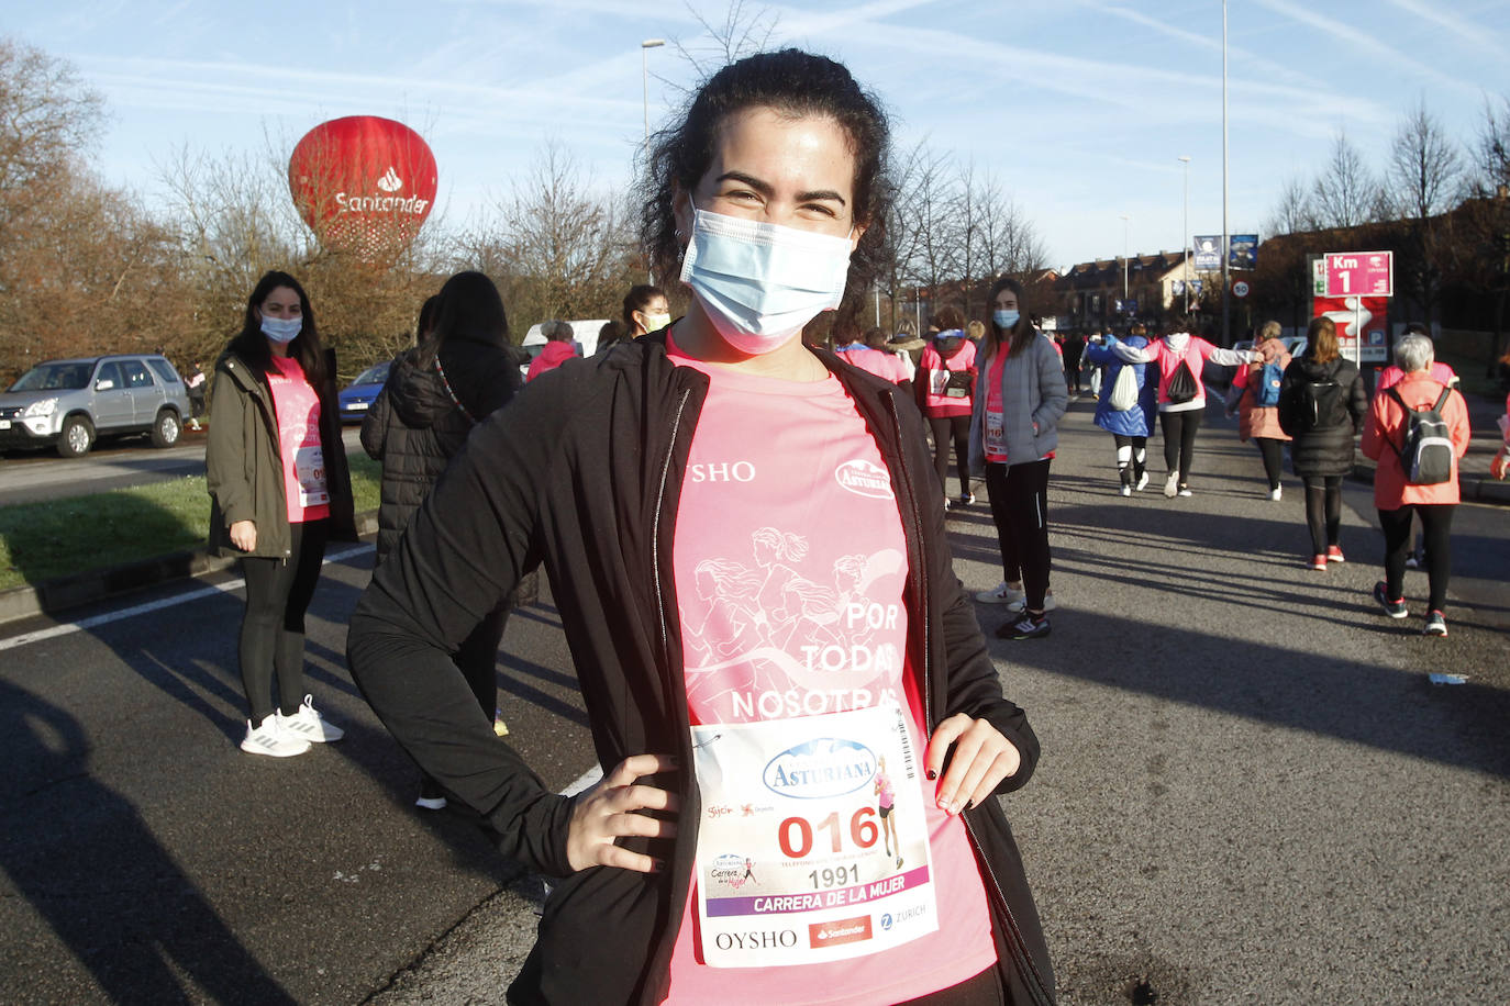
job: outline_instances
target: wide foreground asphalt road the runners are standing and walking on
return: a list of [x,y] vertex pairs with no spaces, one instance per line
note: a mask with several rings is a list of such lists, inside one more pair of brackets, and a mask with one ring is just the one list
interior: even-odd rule
[[[1062,1001],[1504,1003],[1510,510],[1459,508],[1451,635],[1422,638],[1424,573],[1406,621],[1368,597],[1367,487],[1345,490],[1351,561],[1315,573],[1297,483],[1270,502],[1231,424],[1208,416],[1193,498],[1122,499],[1089,416],[1054,463],[1054,632],[992,643],[1043,742],[1007,811]],[[985,505],[950,526],[966,585],[995,584]],[[347,739],[285,762],[236,748],[234,590],[5,627],[8,1000],[503,1001],[539,878],[411,805],[341,661],[370,555],[326,567],[310,626],[310,691]],[[500,667],[509,741],[569,786],[593,756],[548,596]]]

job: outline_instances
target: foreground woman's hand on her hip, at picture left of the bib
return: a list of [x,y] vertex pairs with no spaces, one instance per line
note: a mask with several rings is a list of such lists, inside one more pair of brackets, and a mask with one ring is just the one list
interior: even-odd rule
[[639,811],[681,808],[676,793],[654,786],[636,786],[643,775],[675,771],[669,754],[633,754],[619,762],[596,786],[577,796],[566,833],[566,861],[574,870],[589,866],[616,866],[639,873],[655,873],[664,864],[643,852],[633,852],[616,839],[673,839],[675,820],[658,820]]

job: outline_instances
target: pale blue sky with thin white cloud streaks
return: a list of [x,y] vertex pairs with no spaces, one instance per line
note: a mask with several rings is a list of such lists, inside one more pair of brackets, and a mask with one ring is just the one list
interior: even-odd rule
[[[547,140],[604,187],[642,139],[640,41],[707,51],[689,6],[639,0],[430,5],[234,0],[23,3],[0,29],[71,60],[104,94],[98,170],[153,201],[187,145],[291,149],[343,115],[408,122],[439,164],[436,213],[465,222]],[[726,5],[693,0],[710,23]],[[1219,0],[746,0],[772,41],[843,60],[897,121],[900,145],[974,158],[1003,181],[1054,265],[1222,231]],[[1234,0],[1229,5],[1232,232],[1259,231],[1293,175],[1345,130],[1382,169],[1418,100],[1469,140],[1486,95],[1510,94],[1510,0]],[[648,53],[651,125],[696,69]]]

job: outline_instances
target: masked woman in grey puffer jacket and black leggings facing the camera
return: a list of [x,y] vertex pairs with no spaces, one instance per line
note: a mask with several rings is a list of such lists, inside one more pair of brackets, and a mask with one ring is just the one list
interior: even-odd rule
[[991,287],[991,329],[969,419],[969,466],[986,472],[991,517],[1001,544],[1003,579],[978,600],[1021,612],[997,629],[1003,639],[1049,632],[1048,465],[1059,419],[1069,407],[1065,368],[1054,342],[1025,314],[1022,284]]

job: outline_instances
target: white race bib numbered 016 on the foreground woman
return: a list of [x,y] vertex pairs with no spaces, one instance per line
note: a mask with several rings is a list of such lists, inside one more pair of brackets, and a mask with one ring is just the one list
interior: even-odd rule
[[856,958],[938,929],[900,706],[692,728],[710,967]]

